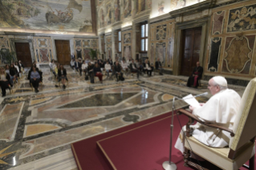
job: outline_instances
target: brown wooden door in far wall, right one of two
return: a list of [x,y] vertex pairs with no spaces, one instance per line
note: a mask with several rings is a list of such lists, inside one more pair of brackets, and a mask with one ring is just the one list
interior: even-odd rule
[[58,63],[63,65],[70,65],[71,52],[69,41],[67,40],[55,40],[56,54]]

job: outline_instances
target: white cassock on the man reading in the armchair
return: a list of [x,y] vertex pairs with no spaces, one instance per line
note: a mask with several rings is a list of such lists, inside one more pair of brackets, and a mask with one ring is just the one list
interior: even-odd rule
[[[233,130],[234,119],[238,113],[240,95],[234,90],[226,89],[213,95],[202,107],[193,110],[193,115],[207,123],[217,123]],[[230,143],[230,132],[206,127],[198,123],[193,137],[210,147],[224,148]]]

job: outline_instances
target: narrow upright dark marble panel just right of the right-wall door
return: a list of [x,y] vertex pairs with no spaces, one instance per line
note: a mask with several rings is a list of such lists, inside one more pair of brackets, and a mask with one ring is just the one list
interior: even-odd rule
[[220,37],[211,38],[209,61],[208,61],[208,65],[207,65],[208,71],[212,71],[212,72],[217,71],[220,53],[221,53],[221,39],[222,38],[220,38]]

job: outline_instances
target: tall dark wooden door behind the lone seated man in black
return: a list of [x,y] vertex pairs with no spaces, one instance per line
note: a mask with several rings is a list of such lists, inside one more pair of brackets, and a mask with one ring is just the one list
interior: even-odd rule
[[181,75],[192,75],[199,61],[201,47],[201,27],[183,30],[181,49]]

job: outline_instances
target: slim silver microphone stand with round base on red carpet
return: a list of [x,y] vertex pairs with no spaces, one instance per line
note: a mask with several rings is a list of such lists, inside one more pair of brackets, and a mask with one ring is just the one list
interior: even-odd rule
[[173,97],[173,107],[172,107],[172,124],[171,124],[171,136],[170,136],[170,152],[169,152],[169,160],[163,163],[163,168],[165,170],[176,170],[177,166],[172,162],[172,143],[173,143],[173,112],[175,109],[174,106],[175,97]]

